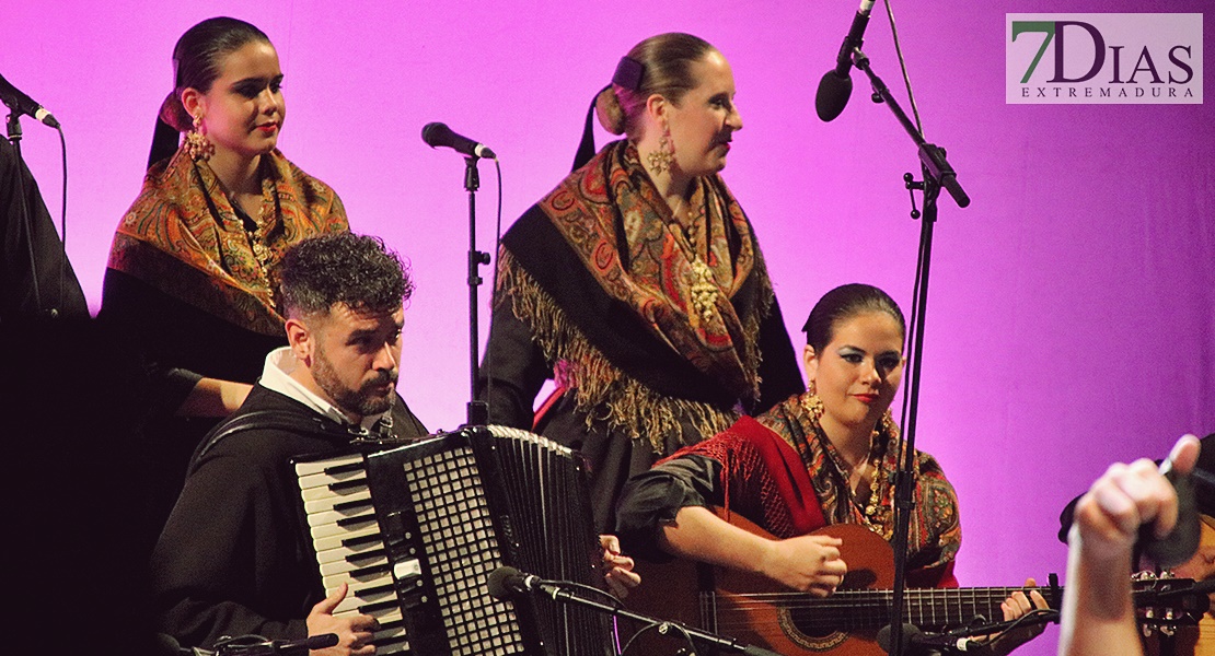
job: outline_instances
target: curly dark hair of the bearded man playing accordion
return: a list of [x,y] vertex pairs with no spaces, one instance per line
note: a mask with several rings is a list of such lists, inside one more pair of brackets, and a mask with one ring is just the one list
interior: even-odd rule
[[292,246],[278,267],[277,301],[283,316],[327,313],[337,303],[395,312],[411,295],[408,267],[378,236],[312,236]]

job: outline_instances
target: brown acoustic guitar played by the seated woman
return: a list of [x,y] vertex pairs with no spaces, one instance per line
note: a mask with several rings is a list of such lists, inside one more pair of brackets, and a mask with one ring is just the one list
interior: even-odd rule
[[[758,535],[767,534],[738,514],[730,523]],[[815,531],[843,541],[841,553],[848,575],[826,598],[790,592],[764,577],[696,566],[688,561],[672,565],[638,564],[642,586],[627,604],[639,612],[686,623],[731,637],[744,644],[761,645],[785,656],[883,656],[877,631],[889,624],[894,567],[889,543],[869,529],[837,524]],[[1168,594],[1185,591],[1192,581],[1171,578],[1136,583],[1137,605],[1152,605],[1158,623],[1196,623],[1206,610],[1202,595]],[[699,588],[699,589],[696,589]],[[1017,591],[1030,588],[927,588],[904,592],[904,621],[921,631],[942,633],[1004,618],[1000,604]],[[1058,609],[1061,588],[1036,588],[1049,605]],[[690,603],[699,599],[699,605]],[[1168,620],[1165,620],[1168,618]],[[642,643],[629,654],[673,654],[678,640],[640,635]],[[635,651],[634,651],[635,649]]]

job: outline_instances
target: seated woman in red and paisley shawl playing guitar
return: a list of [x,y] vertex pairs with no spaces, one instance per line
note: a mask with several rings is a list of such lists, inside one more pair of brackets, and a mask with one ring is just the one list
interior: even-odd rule
[[[661,551],[827,598],[850,587],[842,586],[844,577],[859,569],[849,567],[849,547],[872,534],[891,540],[902,458],[888,409],[903,373],[903,313],[877,287],[844,285],[815,304],[803,330],[808,392],[739,420],[629,481],[617,514],[629,553]],[[740,527],[740,517],[756,526]],[[853,537],[812,534],[831,525],[850,525],[844,527]],[[882,540],[876,542],[885,548]],[[937,461],[920,452],[909,587],[956,587],[960,542],[954,487]],[[1006,594],[995,599],[988,622],[1046,607],[1038,592]],[[1032,635],[1010,635],[994,651],[1006,652]]]

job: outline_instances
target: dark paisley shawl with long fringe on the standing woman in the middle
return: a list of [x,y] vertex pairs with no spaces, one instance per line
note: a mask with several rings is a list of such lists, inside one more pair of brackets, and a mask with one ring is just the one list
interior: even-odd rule
[[[609,144],[512,227],[498,262],[499,302],[531,327],[588,427],[604,420],[659,454],[682,421],[712,435],[755,405],[774,302],[738,201],[717,176],[694,184],[688,234],[637,149]],[[693,302],[695,252],[716,284],[707,312]]]

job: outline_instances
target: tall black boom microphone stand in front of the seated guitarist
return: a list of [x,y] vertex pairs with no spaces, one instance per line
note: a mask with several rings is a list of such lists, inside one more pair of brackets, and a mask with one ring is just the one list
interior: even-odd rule
[[[892,627],[903,626],[903,593],[906,589],[906,558],[908,558],[908,532],[911,521],[911,509],[914,507],[912,490],[915,489],[915,428],[916,409],[920,403],[920,358],[923,353],[923,325],[925,307],[928,303],[928,268],[932,262],[932,230],[937,223],[937,199],[940,189],[945,188],[957,202],[959,207],[966,207],[971,199],[957,184],[957,173],[945,160],[945,150],[938,146],[927,143],[923,135],[908,118],[898,101],[878,78],[869,63],[869,57],[859,47],[853,49],[853,64],[865,72],[870,85],[874,89],[872,99],[876,103],[886,103],[894,113],[894,116],[911,136],[920,152],[920,162],[923,182],[914,182],[911,173],[904,176],[908,189],[921,189],[923,192],[923,215],[915,211],[912,196],[912,218],[922,218],[920,223],[920,255],[916,263],[915,291],[911,306],[911,335],[909,342],[910,354],[908,365],[910,372],[908,386],[903,398],[903,443],[904,460],[902,468],[895,473],[894,483],[894,537],[891,547],[894,551],[894,589],[892,594],[891,620]],[[891,632],[891,656],[904,654],[904,641],[902,631]]]

